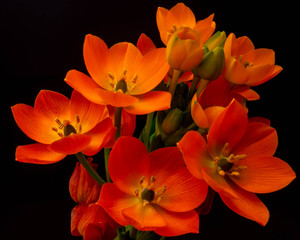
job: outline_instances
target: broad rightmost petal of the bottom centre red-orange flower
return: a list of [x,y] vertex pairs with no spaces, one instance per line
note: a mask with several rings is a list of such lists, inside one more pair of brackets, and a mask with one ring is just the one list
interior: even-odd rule
[[200,206],[207,195],[206,182],[193,177],[186,167],[170,175],[164,184],[166,192],[158,204],[169,211],[191,211]]

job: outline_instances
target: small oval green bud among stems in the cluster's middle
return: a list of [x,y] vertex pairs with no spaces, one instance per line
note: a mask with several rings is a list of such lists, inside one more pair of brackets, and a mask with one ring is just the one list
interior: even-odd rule
[[174,133],[183,122],[183,114],[180,109],[171,109],[162,123],[162,130],[165,134]]

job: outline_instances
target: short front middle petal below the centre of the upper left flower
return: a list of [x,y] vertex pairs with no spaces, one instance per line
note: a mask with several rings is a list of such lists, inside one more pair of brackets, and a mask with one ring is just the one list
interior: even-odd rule
[[97,88],[96,92],[105,104],[114,107],[127,107],[138,102],[138,98],[123,92],[112,92],[102,88]]

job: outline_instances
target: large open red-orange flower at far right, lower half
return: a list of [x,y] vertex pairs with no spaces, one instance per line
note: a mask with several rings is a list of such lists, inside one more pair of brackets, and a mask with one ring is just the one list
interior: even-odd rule
[[191,174],[204,179],[233,211],[265,225],[266,206],[255,193],[269,193],[294,178],[291,167],[273,157],[277,134],[265,121],[248,121],[237,101],[220,113],[210,127],[207,143],[196,131],[178,143]]

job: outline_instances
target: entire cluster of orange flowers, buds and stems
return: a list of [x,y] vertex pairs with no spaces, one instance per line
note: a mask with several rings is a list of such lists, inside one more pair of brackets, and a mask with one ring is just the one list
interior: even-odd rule
[[[196,21],[183,3],[159,7],[161,48],[145,34],[136,46],[110,48],[88,34],[88,74],[70,70],[65,77],[74,89],[70,100],[42,90],[34,107],[12,107],[17,125],[37,142],[18,146],[17,161],[50,164],[74,154],[80,162],[69,184],[77,203],[72,235],[198,233],[199,215],[209,212],[215,193],[237,214],[267,224],[268,209],[256,193],[284,188],[295,173],[273,156],[276,130],[268,119],[248,118],[247,101],[259,99],[252,86],[282,68],[273,50],[215,32],[213,18]],[[139,138],[136,115],[147,115]],[[102,149],[103,178],[92,163]]]

